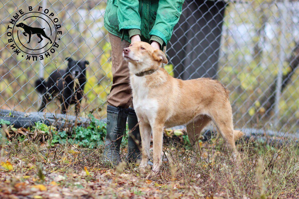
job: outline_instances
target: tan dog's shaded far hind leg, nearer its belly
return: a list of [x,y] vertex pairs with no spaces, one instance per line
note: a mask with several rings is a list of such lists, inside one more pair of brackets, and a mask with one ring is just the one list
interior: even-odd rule
[[194,148],[192,152],[192,162],[196,160],[197,153],[202,153],[199,146],[199,138],[202,132],[202,129],[210,123],[211,118],[207,115],[199,116],[199,118],[194,118],[190,123],[187,124],[187,135],[190,141],[191,146]]

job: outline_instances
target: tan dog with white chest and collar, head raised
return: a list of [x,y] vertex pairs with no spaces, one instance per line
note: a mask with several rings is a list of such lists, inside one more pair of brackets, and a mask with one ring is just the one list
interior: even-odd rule
[[124,49],[123,57],[129,62],[133,105],[139,121],[141,172],[145,172],[150,158],[151,130],[154,141],[152,174],[159,172],[164,126],[187,124],[190,143],[199,150],[198,137],[202,129],[213,121],[233,157],[239,159],[235,140],[243,133],[234,130],[229,91],[219,81],[173,78],[161,68],[161,63],[168,62],[164,53],[145,42],[132,43]]

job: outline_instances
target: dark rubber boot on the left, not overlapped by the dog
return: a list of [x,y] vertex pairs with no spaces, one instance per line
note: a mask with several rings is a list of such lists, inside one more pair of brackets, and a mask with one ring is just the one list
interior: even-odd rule
[[117,166],[121,162],[120,146],[126,130],[129,109],[107,106],[107,135],[105,140],[104,161]]

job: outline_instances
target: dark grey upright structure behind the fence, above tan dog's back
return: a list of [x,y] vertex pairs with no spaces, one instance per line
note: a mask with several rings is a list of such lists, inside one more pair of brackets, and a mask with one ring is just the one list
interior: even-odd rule
[[216,77],[226,5],[223,1],[185,1],[167,45],[175,77],[183,80]]

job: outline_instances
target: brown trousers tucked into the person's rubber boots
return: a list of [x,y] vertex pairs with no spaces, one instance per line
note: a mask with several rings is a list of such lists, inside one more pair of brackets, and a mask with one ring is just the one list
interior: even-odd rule
[[107,97],[109,105],[121,108],[128,108],[132,104],[132,93],[129,84],[128,62],[122,57],[124,48],[130,46],[130,43],[109,33],[111,42],[112,58],[112,87]]

